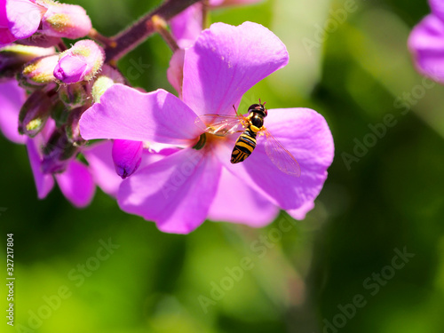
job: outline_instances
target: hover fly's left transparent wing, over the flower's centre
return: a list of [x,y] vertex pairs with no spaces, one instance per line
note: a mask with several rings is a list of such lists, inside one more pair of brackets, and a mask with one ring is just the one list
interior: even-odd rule
[[202,131],[225,137],[238,131],[243,131],[243,124],[246,122],[242,115],[201,115],[194,123]]

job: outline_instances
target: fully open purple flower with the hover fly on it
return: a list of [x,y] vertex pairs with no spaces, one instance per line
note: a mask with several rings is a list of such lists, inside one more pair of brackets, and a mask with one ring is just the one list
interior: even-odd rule
[[304,218],[334,155],[329,126],[315,111],[271,109],[266,117],[266,128],[296,156],[300,178],[277,169],[266,155],[264,138],[237,164],[230,163],[235,135],[207,134],[202,149],[194,149],[202,134],[194,124],[198,115],[233,115],[233,105],[246,91],[287,63],[285,45],[267,28],[217,23],[185,50],[182,100],[163,90],[143,93],[122,84],[109,88],[83,114],[83,139],[181,147],[124,180],[117,195],[120,207],[178,234],[193,231],[205,218],[264,226],[279,208]]

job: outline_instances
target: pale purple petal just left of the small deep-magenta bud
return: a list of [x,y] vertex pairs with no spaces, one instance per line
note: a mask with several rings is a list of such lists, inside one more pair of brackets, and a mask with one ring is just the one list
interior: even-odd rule
[[83,155],[90,164],[89,169],[95,183],[103,192],[116,197],[122,178],[115,173],[115,166],[111,157],[112,148],[112,141],[103,141],[84,149]]

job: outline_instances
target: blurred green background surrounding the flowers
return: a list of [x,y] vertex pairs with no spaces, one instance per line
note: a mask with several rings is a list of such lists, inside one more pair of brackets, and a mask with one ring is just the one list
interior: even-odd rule
[[[73,3],[112,36],[160,1]],[[123,213],[100,190],[83,210],[57,188],[39,201],[25,147],[0,138],[3,253],[6,234],[14,234],[11,331],[442,331],[444,88],[416,74],[406,46],[410,29],[428,12],[425,1],[274,0],[211,13],[212,21],[261,23],[289,49],[289,66],[258,83],[243,105],[261,98],[270,108],[312,107],[335,139],[335,161],[315,209],[304,221],[286,224],[292,227],[279,237],[276,230],[288,223],[285,213],[261,229],[207,221],[192,234],[175,235]],[[326,24],[329,33],[317,40],[318,27]],[[305,47],[307,40],[315,46]],[[149,67],[132,75],[131,83],[172,91],[165,75],[170,55],[153,36],[119,67],[129,75],[141,59]],[[408,107],[397,104],[403,94],[411,94]],[[357,142],[370,142],[371,127],[381,128],[386,115],[395,124],[345,163],[344,154],[353,155]],[[258,250],[265,236],[275,242]],[[108,239],[118,249],[94,259],[100,240]],[[396,249],[415,256],[404,266],[394,259],[402,267],[388,268]],[[242,260],[250,260],[251,269],[239,277],[233,267]],[[94,263],[99,266],[82,280],[73,271]],[[230,270],[239,281],[230,280]],[[385,278],[377,282],[373,274]],[[219,290],[220,299],[202,306],[221,282],[227,290]],[[60,288],[67,297],[59,300]],[[353,299],[362,306],[353,310]],[[3,318],[2,331],[10,329]]]

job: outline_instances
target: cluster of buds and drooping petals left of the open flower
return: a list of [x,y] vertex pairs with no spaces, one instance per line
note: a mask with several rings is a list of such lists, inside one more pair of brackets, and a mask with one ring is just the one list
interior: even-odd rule
[[[81,40],[65,50],[61,37],[80,38],[90,30],[91,20],[77,5],[0,3],[0,129],[6,138],[26,144],[38,197],[44,198],[55,180],[77,207],[91,202],[95,183],[114,195],[120,184],[108,157],[111,143],[85,147],[78,130],[92,92],[103,85],[98,80],[123,82],[104,65],[105,53],[94,41]],[[89,166],[78,160],[81,154]]]

